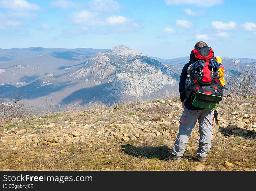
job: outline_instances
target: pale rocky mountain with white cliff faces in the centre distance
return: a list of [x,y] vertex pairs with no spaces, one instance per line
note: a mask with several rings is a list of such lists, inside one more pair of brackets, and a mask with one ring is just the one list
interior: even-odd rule
[[72,75],[75,79],[85,79],[85,83],[90,81],[95,86],[109,83],[104,88],[105,91],[111,91],[109,97],[142,97],[161,90],[165,85],[177,84],[177,76],[173,76],[170,67],[126,46],[116,46],[109,52],[97,54]]

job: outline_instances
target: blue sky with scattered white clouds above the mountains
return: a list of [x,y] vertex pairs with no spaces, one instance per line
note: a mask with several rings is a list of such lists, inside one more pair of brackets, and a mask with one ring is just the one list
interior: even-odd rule
[[254,0],[0,0],[0,48],[125,45],[144,55],[256,58]]

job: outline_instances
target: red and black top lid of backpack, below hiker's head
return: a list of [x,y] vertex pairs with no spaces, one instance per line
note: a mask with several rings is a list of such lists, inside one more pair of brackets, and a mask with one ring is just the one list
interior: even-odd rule
[[190,59],[193,61],[196,60],[207,60],[214,57],[214,52],[211,47],[204,46],[193,49],[190,54]]

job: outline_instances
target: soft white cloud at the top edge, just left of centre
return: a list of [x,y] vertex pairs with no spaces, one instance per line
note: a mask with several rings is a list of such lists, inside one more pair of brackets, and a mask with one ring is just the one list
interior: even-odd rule
[[121,8],[118,2],[113,0],[92,0],[88,4],[92,10],[100,12],[111,12]]

